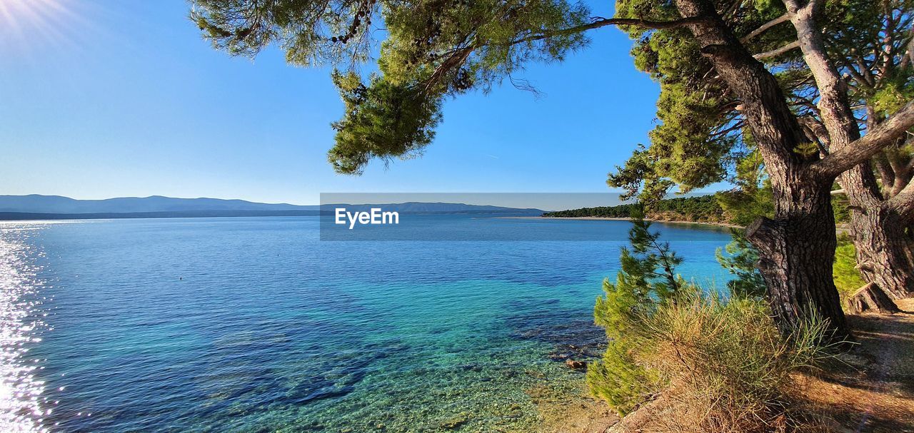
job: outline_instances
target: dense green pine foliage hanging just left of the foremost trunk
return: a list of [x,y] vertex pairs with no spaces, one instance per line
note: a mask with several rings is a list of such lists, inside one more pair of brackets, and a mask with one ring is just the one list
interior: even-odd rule
[[[747,2],[733,14],[739,19],[728,24],[738,33],[748,32],[781,15],[782,8],[780,2]],[[616,16],[669,20],[679,13],[673,2],[618,0]],[[673,185],[690,191],[724,180],[734,169],[734,161],[751,147],[749,138],[743,136],[739,101],[685,28],[627,30],[635,40],[635,67],[660,84],[658,123],[650,133],[650,146],[640,146],[626,164],[616,167],[607,183],[624,187],[632,196],[641,189],[641,198],[651,200]],[[773,48],[768,37],[777,31],[753,39],[752,45],[760,50]]]

